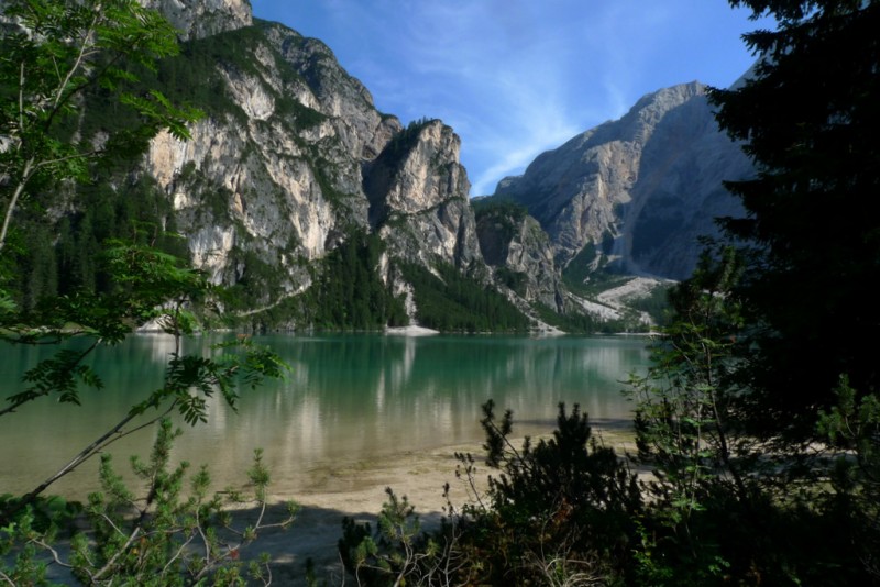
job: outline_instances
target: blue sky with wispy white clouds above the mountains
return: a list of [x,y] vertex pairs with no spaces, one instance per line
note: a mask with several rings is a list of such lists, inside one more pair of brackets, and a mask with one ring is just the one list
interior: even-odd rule
[[[727,87],[759,25],[725,0],[252,0],[323,41],[383,112],[462,139],[472,196],[646,93]],[[767,26],[767,24],[765,24]]]

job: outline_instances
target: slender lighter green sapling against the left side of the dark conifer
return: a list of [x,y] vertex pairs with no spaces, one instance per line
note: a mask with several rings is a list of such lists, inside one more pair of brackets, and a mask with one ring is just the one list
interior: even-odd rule
[[727,468],[741,477],[732,461],[740,445],[730,439],[740,390],[729,377],[743,329],[730,297],[740,265],[733,248],[723,255],[715,262],[704,254],[694,276],[670,291],[675,320],[660,330],[648,375],[630,379],[639,455],[674,487],[671,499],[685,517],[704,473]]

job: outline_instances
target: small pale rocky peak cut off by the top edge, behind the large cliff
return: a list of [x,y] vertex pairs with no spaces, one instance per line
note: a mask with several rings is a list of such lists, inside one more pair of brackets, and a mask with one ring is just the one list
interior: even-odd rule
[[141,4],[165,14],[183,40],[202,38],[253,23],[249,0],[141,0]]

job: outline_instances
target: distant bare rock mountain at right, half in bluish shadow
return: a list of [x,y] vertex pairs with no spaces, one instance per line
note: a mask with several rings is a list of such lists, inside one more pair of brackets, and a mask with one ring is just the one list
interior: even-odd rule
[[740,212],[722,180],[751,164],[723,135],[698,82],[644,97],[620,120],[540,155],[495,195],[526,206],[569,263],[585,246],[627,273],[686,277],[695,239],[713,218]]

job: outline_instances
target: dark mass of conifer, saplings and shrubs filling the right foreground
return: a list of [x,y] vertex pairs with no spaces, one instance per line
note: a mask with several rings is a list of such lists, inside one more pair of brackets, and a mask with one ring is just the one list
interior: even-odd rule
[[[626,465],[603,461],[576,410],[560,410],[553,441],[516,448],[509,414],[497,423],[490,403],[486,465],[501,470],[487,491],[450,505],[431,533],[407,524],[411,511],[391,494],[383,520],[396,521],[395,540],[343,539],[356,577],[880,583],[880,310],[866,285],[880,277],[880,3],[730,3],[778,21],[747,35],[767,56],[756,76],[713,95],[759,173],[730,186],[749,215],[728,219],[734,244],[708,246],[670,290],[652,366],[629,383],[638,454],[628,458],[652,477],[629,489]],[[583,265],[569,279],[582,283]],[[461,466],[470,479],[477,461],[462,455]]]

